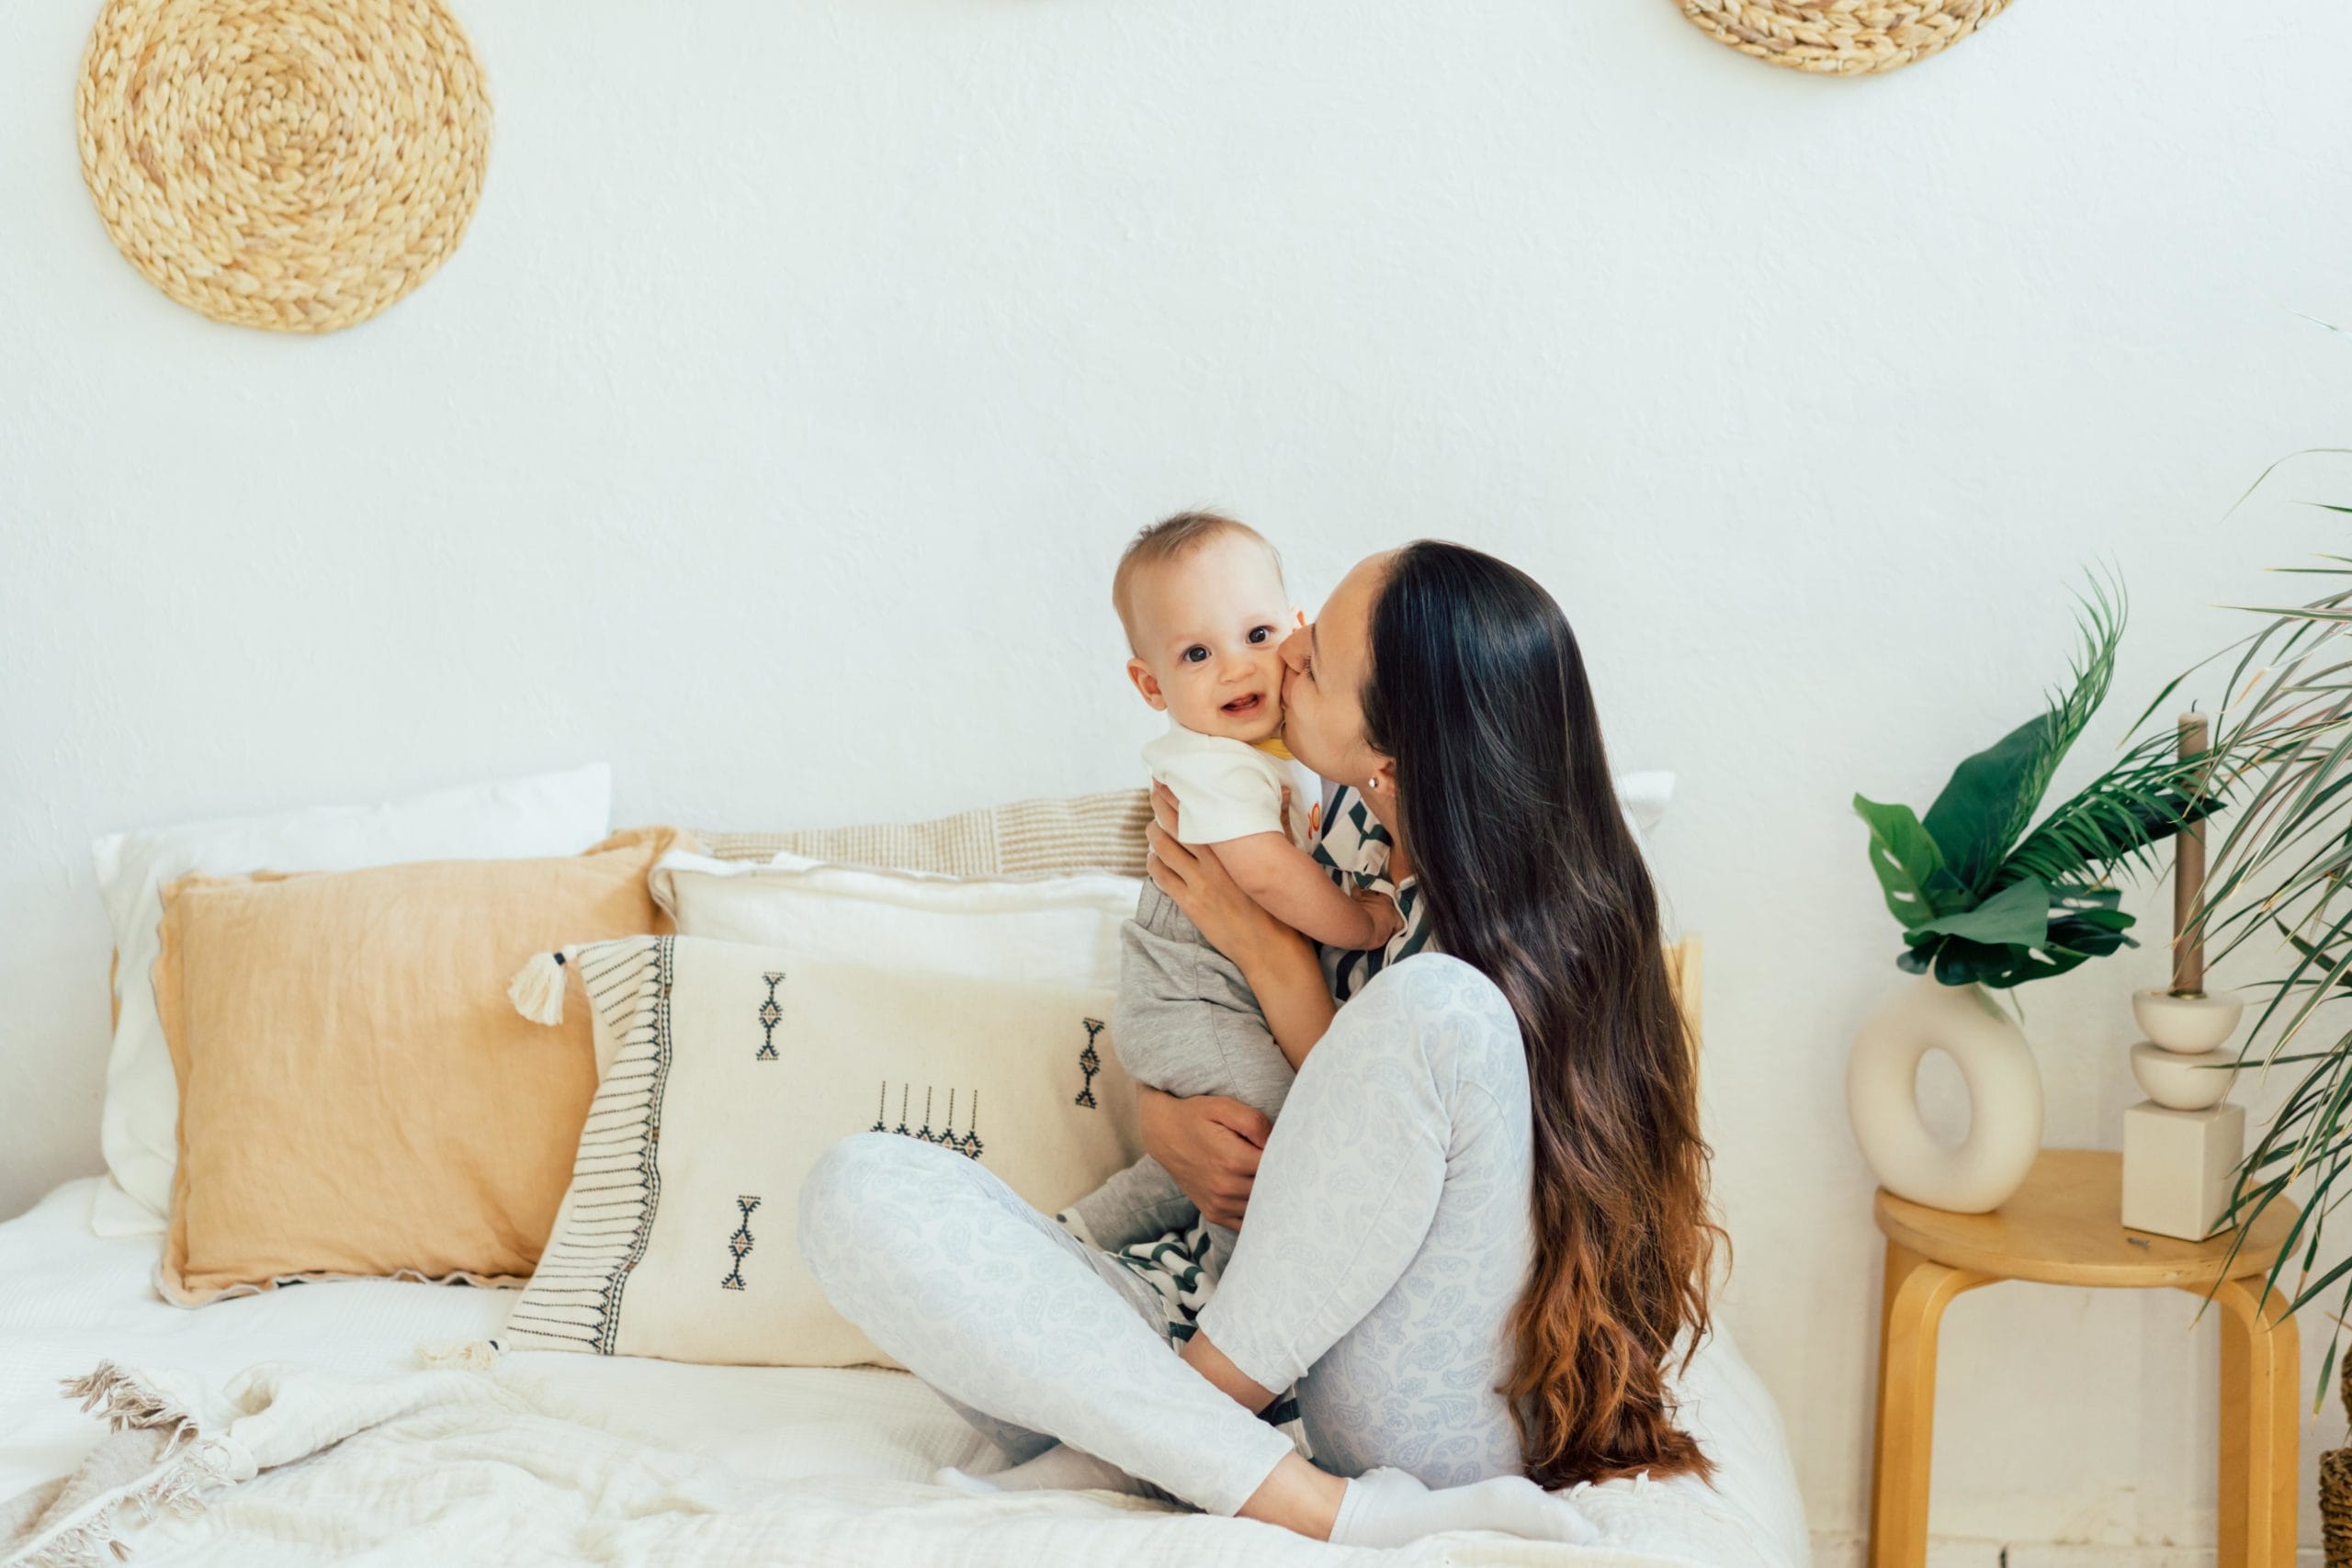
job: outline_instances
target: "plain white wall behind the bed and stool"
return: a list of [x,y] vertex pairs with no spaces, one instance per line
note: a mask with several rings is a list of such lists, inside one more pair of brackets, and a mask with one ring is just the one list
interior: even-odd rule
[[[2288,498],[2345,475],[2223,512],[2347,435],[2352,343],[2296,313],[2352,320],[2352,12],[2018,5],[1828,82],[1668,0],[461,0],[473,230],[306,341],[111,252],[89,9],[0,7],[0,1213],[99,1168],[96,832],[590,757],[701,825],[1108,788],[1127,529],[1232,505],[1308,604],[1446,534],[1557,590],[1618,764],[1684,778],[1726,1314],[1860,1528],[1842,1063],[1896,973],[1844,802],[2032,710],[2077,564],[2138,607],[2096,752],[2211,604],[2343,548]],[[2051,1143],[2114,1145],[2157,976],[2027,994]],[[1938,1533],[2209,1540],[2190,1307],[1962,1300]]]

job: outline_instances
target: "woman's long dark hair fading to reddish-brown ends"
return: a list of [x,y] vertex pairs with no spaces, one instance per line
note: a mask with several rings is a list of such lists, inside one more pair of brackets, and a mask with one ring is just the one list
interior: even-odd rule
[[1712,1474],[1668,1368],[1708,1331],[1715,1244],[1698,1072],[1658,898],[1618,811],[1566,616],[1463,545],[1392,557],[1364,736],[1395,759],[1437,945],[1510,999],[1534,1095],[1536,1255],[1512,1312],[1526,1474],[1548,1488]]

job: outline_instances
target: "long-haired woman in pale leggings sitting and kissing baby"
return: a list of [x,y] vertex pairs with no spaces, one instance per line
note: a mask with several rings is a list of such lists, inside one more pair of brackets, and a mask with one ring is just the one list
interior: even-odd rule
[[[1277,1039],[1317,1041],[1270,1135],[1232,1103],[1145,1098],[1145,1147],[1202,1213],[1247,1208],[1178,1356],[1136,1274],[906,1138],[818,1161],[802,1251],[1016,1460],[1061,1439],[1350,1544],[1578,1540],[1538,1486],[1710,1469],[1668,1375],[1708,1333],[1719,1232],[1656,896],[1576,639],[1526,574],[1423,541],[1348,574],[1284,661],[1289,750],[1350,785],[1327,846],[1343,823],[1388,846],[1350,870],[1385,870],[1418,905],[1399,945],[1425,947],[1341,973],[1359,990],[1334,1013],[1312,945],[1152,827],[1152,882]],[[1319,1465],[1254,1415],[1301,1378]]]

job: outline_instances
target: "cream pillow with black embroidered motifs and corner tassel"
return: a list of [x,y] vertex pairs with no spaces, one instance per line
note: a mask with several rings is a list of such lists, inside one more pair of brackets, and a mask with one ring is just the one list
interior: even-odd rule
[[906,1133],[1047,1213],[1141,1154],[1101,987],[691,936],[581,947],[567,969],[609,1067],[506,1349],[887,1366],[800,1262],[823,1150]]

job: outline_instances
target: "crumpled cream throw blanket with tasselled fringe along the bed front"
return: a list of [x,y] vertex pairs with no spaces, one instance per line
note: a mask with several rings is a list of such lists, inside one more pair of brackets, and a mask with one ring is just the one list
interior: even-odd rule
[[[840,1563],[974,1568],[1138,1563],[1331,1568],[1371,1554],[1275,1526],[1110,1493],[971,1497],[920,1481],[771,1481],[614,1429],[482,1359],[353,1378],[266,1363],[212,1392],[101,1363],[66,1385],[108,1434],[71,1476],[0,1502],[0,1566]],[[1578,1497],[1604,1547],[1442,1535],[1381,1563],[1748,1568],[1752,1526],[1658,1486]]]

